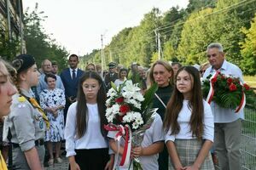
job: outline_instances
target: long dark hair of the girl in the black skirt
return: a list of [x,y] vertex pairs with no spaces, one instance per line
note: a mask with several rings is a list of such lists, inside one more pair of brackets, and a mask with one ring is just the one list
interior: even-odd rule
[[88,108],[86,105],[86,99],[83,91],[83,82],[86,81],[88,78],[93,78],[97,82],[99,82],[100,89],[97,93],[96,102],[98,105],[98,112],[100,116],[100,122],[101,122],[101,131],[102,135],[106,136],[106,131],[104,130],[104,124],[107,124],[107,119],[105,117],[105,111],[106,111],[106,91],[104,88],[104,84],[102,82],[102,77],[100,77],[95,71],[85,71],[84,75],[79,80],[79,90],[78,90],[78,105],[77,105],[77,135],[78,138],[81,138],[84,136],[84,133],[87,129],[87,117],[88,117]]

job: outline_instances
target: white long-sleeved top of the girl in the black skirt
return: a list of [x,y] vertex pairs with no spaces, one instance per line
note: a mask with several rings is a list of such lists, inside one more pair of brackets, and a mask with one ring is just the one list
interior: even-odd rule
[[76,135],[77,102],[69,106],[65,127],[66,151],[68,156],[75,156],[75,150],[108,148],[108,141],[102,136],[98,106],[86,104],[88,108],[87,129],[80,139]]

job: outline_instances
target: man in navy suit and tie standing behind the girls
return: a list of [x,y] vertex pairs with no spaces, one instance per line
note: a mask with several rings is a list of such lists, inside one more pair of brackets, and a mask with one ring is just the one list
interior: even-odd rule
[[66,105],[64,109],[64,120],[66,122],[67,110],[69,105],[76,101],[79,78],[84,74],[84,71],[78,68],[79,56],[71,54],[68,59],[69,68],[61,72],[61,81],[65,88]]

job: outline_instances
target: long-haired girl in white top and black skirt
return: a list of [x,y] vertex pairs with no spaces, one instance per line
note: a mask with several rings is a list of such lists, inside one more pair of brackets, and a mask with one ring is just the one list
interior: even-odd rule
[[107,133],[103,128],[107,124],[106,98],[102,78],[94,71],[86,71],[79,80],[78,101],[67,111],[69,169],[112,169],[113,156],[108,155]]

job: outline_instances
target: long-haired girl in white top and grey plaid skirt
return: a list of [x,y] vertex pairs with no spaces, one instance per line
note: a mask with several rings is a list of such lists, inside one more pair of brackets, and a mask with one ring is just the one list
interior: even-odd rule
[[202,99],[199,71],[193,66],[177,71],[164,128],[171,169],[214,169],[209,152],[214,133],[212,111]]

